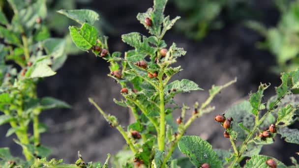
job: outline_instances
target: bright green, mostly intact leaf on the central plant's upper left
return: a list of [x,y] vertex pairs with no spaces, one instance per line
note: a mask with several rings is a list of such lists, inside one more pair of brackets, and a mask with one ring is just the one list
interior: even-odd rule
[[85,23],[80,29],[76,27],[69,27],[69,30],[73,42],[79,49],[87,51],[96,44],[98,31],[93,26]]

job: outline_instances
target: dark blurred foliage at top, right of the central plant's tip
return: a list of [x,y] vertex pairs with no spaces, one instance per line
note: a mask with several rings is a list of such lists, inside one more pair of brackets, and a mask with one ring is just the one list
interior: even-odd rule
[[203,39],[210,29],[224,26],[219,17],[222,11],[226,11],[229,20],[248,18],[252,13],[246,0],[174,0],[174,3],[184,14],[176,29],[194,40]]

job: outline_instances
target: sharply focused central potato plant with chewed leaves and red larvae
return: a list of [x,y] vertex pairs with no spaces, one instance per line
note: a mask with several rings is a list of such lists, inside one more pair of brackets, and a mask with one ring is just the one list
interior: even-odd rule
[[[92,22],[82,20],[89,17],[91,18],[87,20],[94,19],[93,14],[86,15],[86,12],[83,14],[84,10],[59,11],[82,24],[81,28],[74,26],[69,28],[76,46],[81,50],[91,51],[95,56],[100,56],[110,63],[109,76],[121,85],[121,94],[124,97],[124,100],[114,99],[114,101],[120,106],[129,108],[135,118],[134,123],[123,129],[116,116],[106,114],[91,98],[89,99],[107,122],[120,132],[131,150],[129,152],[124,149],[116,155],[113,160],[116,167],[131,168],[134,165],[153,168],[178,167],[182,161],[172,160],[172,154],[186,129],[196,118],[214,109],[208,105],[221,89],[236,82],[234,80],[223,86],[213,86],[208,99],[201,106],[195,104],[198,114],[186,118],[186,122],[182,121],[179,126],[174,124],[171,113],[179,109],[179,105],[173,99],[174,96],[181,92],[203,89],[187,79],[169,83],[172,77],[182,70],[180,66],[172,67],[172,65],[186,52],[183,48],[177,47],[176,43],[167,48],[167,53],[162,55],[160,52],[168,46],[162,39],[163,36],[180,18],[170,19],[170,16],[164,16],[166,2],[167,0],[154,0],[153,8],[137,15],[137,19],[151,35],[147,37],[139,32],[122,35],[122,41],[134,48],[124,55],[120,52],[113,54],[109,52],[107,37],[99,35],[97,29],[91,26]],[[105,55],[102,54],[104,49],[108,51]],[[184,120],[188,107],[184,105],[181,110]],[[213,156],[217,158],[216,153],[213,153]],[[218,166],[220,165],[219,161]]]

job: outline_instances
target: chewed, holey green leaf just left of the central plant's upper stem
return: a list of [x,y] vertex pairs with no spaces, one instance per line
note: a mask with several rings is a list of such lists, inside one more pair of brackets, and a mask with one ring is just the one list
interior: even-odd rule
[[142,36],[141,41],[140,33],[132,32],[121,35],[121,39],[123,42],[134,47],[138,54],[146,54],[152,57],[155,56],[156,49],[154,47],[150,47],[149,38],[147,38],[146,36]]

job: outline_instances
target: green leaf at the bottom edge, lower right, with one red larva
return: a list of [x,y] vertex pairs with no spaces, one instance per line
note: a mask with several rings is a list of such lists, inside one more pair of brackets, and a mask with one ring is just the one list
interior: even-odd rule
[[266,161],[268,161],[269,159],[273,159],[276,162],[276,168],[287,168],[283,163],[281,163],[277,159],[264,155],[252,156],[250,160],[246,161],[244,168],[269,168],[269,166],[266,164]]

